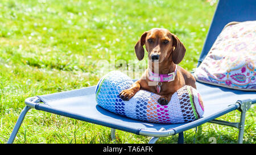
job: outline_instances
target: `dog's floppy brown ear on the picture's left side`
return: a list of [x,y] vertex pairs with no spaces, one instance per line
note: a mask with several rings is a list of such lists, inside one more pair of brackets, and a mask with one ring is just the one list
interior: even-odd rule
[[143,45],[145,44],[146,36],[147,36],[147,32],[144,32],[141,36],[141,39],[139,39],[139,41],[136,43],[134,47],[138,60],[142,60],[144,57]]

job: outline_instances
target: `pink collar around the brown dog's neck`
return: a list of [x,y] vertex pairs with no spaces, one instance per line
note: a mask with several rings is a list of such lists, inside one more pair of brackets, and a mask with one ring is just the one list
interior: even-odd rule
[[171,82],[174,81],[176,74],[177,65],[175,65],[175,71],[168,74],[156,74],[153,73],[150,69],[148,69],[148,79],[150,79],[150,81]]

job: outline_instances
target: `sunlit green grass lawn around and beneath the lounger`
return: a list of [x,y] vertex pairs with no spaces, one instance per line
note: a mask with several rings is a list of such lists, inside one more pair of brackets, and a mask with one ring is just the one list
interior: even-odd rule
[[[154,27],[175,33],[187,48],[180,66],[191,71],[203,47],[216,4],[193,1],[11,1],[0,2],[0,143],[6,143],[24,99],[96,85],[98,61],[137,61],[134,45]],[[146,58],[145,58],[146,60]],[[139,62],[145,67],[145,60]],[[118,69],[111,68],[110,70]],[[133,68],[129,70],[133,71]],[[255,143],[255,106],[247,112],[244,143]],[[238,122],[234,111],[221,120]],[[117,143],[150,137],[117,131]],[[184,133],[193,143],[195,128]],[[232,127],[206,123],[196,143],[237,143]],[[157,143],[176,143],[177,135]],[[14,143],[113,143],[110,128],[30,110]]]

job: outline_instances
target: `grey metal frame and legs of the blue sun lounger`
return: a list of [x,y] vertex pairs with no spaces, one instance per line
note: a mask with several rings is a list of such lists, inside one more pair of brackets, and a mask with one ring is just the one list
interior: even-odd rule
[[[20,125],[22,124],[24,117],[26,116],[27,112],[31,109],[34,108],[36,109],[36,106],[38,106],[38,104],[42,104],[40,103],[40,99],[38,97],[30,97],[27,98],[25,100],[26,103],[26,107],[23,108],[22,112],[19,115],[19,118],[15,124],[15,127],[13,129],[13,132],[10,135],[10,138],[8,140],[7,143],[13,143],[16,134],[19,131]],[[228,125],[230,127],[235,127],[238,128],[239,130],[239,134],[238,134],[238,143],[242,143],[243,141],[243,133],[244,133],[244,127],[245,127],[245,114],[246,111],[248,111],[251,107],[251,104],[255,104],[256,103],[256,99],[251,100],[251,99],[247,99],[247,100],[237,100],[236,103],[234,103],[233,105],[230,105],[228,108],[220,111],[220,113],[218,115],[213,115],[213,116],[209,116],[207,118],[202,118],[199,120],[195,120],[195,122],[193,123],[194,125],[191,127],[191,125],[189,126],[190,128],[193,127],[197,127],[201,124],[204,123],[216,123],[216,124],[221,124],[221,125]],[[240,116],[240,122],[238,123],[232,123],[232,122],[225,122],[222,120],[216,120],[214,118],[218,118],[219,116],[222,116],[224,114],[227,114],[228,112],[234,111],[234,110],[239,110],[241,111],[241,116]],[[53,114],[58,114],[57,111],[52,112]],[[72,118],[72,116],[71,116]],[[77,118],[74,118],[77,119]],[[152,137],[152,139],[148,142],[148,143],[155,143],[159,137],[167,137],[167,136],[171,136],[171,135],[175,135],[176,133],[179,133],[179,140],[178,143],[183,143],[184,141],[184,137],[183,137],[183,131],[186,131],[186,128],[183,128],[181,131],[178,131],[178,129],[168,129],[165,130],[164,128],[160,129],[159,131],[147,131],[144,129],[141,129],[141,131],[139,131],[139,135],[143,135],[143,136],[150,136]],[[115,129],[112,128],[111,131],[111,137],[114,140],[115,139]]]

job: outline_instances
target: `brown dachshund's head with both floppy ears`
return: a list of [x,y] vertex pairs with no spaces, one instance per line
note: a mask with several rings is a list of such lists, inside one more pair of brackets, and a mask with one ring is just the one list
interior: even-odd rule
[[144,57],[143,45],[148,52],[148,60],[159,63],[167,60],[179,64],[186,51],[177,36],[164,28],[152,28],[142,34],[134,47],[138,60]]

